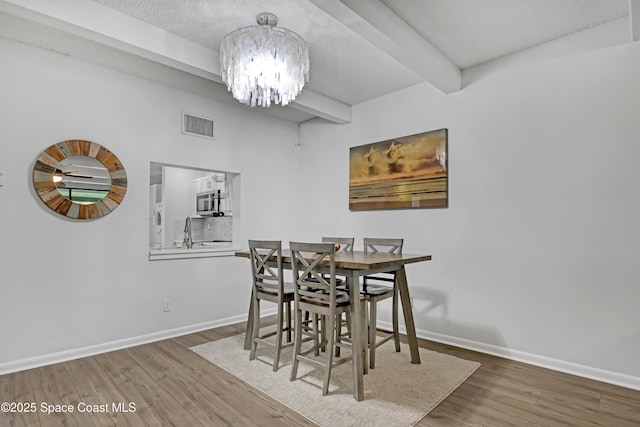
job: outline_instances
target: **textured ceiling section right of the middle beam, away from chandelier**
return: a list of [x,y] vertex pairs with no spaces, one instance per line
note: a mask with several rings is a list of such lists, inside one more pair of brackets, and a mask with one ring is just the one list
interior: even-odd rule
[[628,0],[383,0],[464,69],[629,15]]

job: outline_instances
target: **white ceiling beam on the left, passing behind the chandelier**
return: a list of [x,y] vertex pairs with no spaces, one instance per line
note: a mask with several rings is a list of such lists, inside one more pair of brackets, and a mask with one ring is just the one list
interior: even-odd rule
[[[0,11],[223,84],[217,51],[98,3],[87,0],[0,0]],[[303,90],[286,108],[334,123],[351,121],[351,106],[309,89]]]

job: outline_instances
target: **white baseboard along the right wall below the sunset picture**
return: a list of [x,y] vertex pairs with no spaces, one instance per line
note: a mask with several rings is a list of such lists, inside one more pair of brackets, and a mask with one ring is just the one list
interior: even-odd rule
[[[380,329],[391,330],[391,323],[378,322],[378,327]],[[406,330],[401,326],[400,332],[406,333]],[[564,360],[540,356],[524,351],[512,350],[506,347],[453,337],[450,335],[443,335],[436,332],[416,329],[416,336],[418,338],[423,338],[429,341],[435,341],[442,344],[464,348],[467,350],[477,351],[479,353],[498,356],[503,359],[514,360],[516,362],[527,363],[534,366],[540,366],[542,368],[564,372],[566,374],[577,375],[579,377],[589,378],[592,380],[626,387],[633,390],[640,390],[640,377],[634,377],[618,372],[579,365],[577,363],[566,362]]]

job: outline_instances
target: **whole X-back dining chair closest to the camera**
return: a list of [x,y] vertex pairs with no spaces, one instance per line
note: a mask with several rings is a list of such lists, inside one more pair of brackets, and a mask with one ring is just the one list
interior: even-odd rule
[[[324,368],[322,395],[329,392],[331,370],[352,359],[352,352],[348,356],[334,357],[336,347],[351,349],[351,341],[340,333],[340,316],[350,309],[349,294],[336,288],[336,248],[333,243],[301,243],[290,242],[291,266],[294,281],[294,312],[295,338],[291,377],[293,381],[298,375],[300,361]],[[328,265],[326,264],[328,263]],[[320,266],[329,269],[327,276],[322,274]],[[313,280],[310,280],[313,279]],[[362,313],[364,310],[364,300]],[[320,322],[324,331],[320,333],[320,340],[314,340],[313,345],[303,348],[303,314],[309,312],[323,318]],[[314,323],[315,324],[315,323]],[[320,349],[326,349],[320,352]],[[311,357],[311,354],[316,357]]]

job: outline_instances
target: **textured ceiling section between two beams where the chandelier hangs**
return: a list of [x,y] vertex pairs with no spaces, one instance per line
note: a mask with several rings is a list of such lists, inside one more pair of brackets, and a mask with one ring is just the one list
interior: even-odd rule
[[[227,33],[256,25],[259,13],[271,12],[279,27],[301,35],[310,46],[308,87],[350,105],[421,81],[306,0],[93,1],[215,51]],[[348,85],[336,85],[345,76],[355,78]]]

